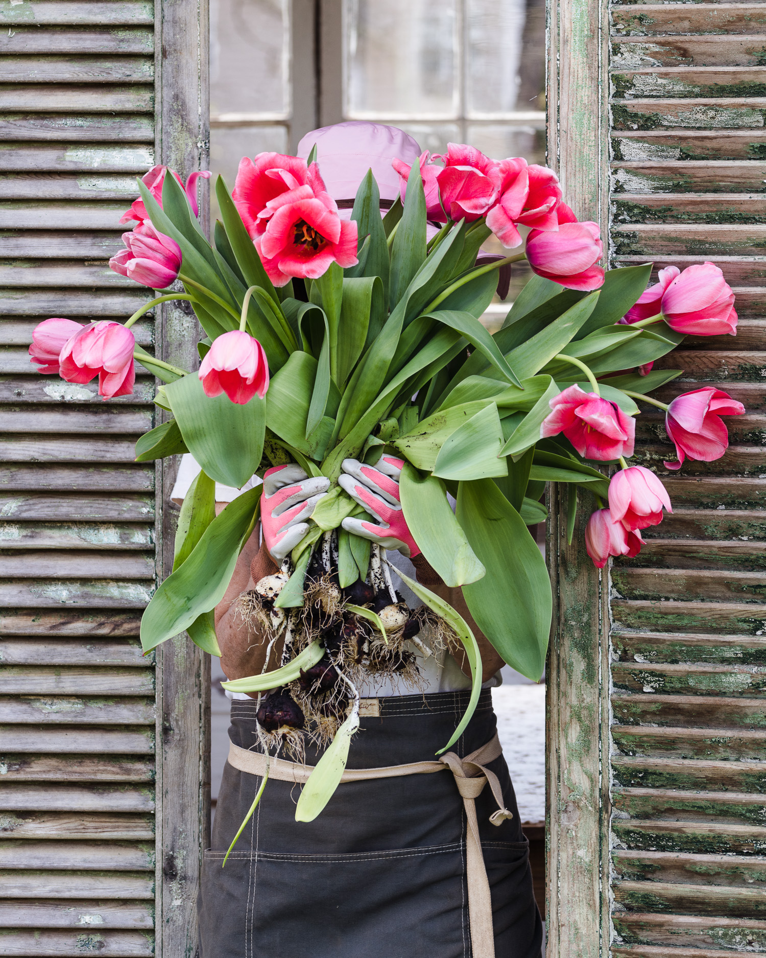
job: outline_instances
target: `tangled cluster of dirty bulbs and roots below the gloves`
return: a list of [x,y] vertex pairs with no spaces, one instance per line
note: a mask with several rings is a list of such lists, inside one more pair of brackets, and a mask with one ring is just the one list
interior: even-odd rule
[[[266,661],[275,648],[282,649],[282,665],[314,641],[325,648],[322,659],[296,681],[260,696],[259,731],[269,751],[283,746],[302,761],[306,741],[320,747],[332,741],[360,685],[394,678],[408,690],[422,690],[418,660],[457,644],[451,627],[427,606],[408,608],[375,552],[373,546],[370,582],[342,589],[331,550],[317,549],[306,570],[302,607],[275,606],[287,571],[264,577],[240,596],[237,616],[262,636]],[[385,636],[353,606],[375,612]]]

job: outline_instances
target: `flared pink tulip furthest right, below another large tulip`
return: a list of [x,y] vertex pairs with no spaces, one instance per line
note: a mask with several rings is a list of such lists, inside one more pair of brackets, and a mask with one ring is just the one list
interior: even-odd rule
[[676,446],[677,463],[665,463],[668,469],[680,469],[685,458],[711,463],[720,459],[729,447],[729,430],[721,416],[741,416],[745,407],[720,389],[695,389],[677,396],[667,407],[665,429]]

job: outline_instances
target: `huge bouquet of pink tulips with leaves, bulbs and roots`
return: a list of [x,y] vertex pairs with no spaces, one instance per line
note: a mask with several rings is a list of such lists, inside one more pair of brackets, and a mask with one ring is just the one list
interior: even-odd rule
[[[327,490],[279,573],[244,597],[264,641],[282,642],[281,666],[225,683],[280,690],[289,708],[265,729],[267,745],[302,734],[327,744],[299,802],[304,820],[340,780],[360,677],[402,674],[417,685],[418,655],[462,645],[472,696],[445,748],[462,734],[482,681],[476,639],[455,609],[404,575],[423,606],[410,612],[395,594],[385,549],[371,542],[380,527],[349,494],[349,472],[394,469],[383,528],[403,514],[403,551],[421,551],[447,585],[462,586],[495,649],[536,680],[552,592],[528,527],[546,517],[545,484],[570,486],[570,537],[576,490],[596,496],[586,541],[597,566],[635,555],[641,530],[671,508],[659,479],[626,463],[637,400],[666,410],[678,450],[668,468],[722,455],[719,417],[744,411],[713,389],[669,406],[646,395],[681,374],[651,366],[686,333],[735,331],[732,290],[716,266],[671,267],[648,288],[651,264],[604,271],[597,224],[578,222],[553,172],[522,159],[450,145],[394,168],[401,194],[386,215],[371,171],[346,220],[313,157],[245,158],[233,194],[220,177],[215,184],[213,242],[197,221],[197,174],[184,189],[177,174],[155,168],[125,214],[137,225],[111,265],[178,291],[124,324],[47,320],[31,348],[42,373],[98,375],[104,397],[129,394],[140,362],[162,380],[155,402],[171,418],[139,440],[137,461],[190,451],[202,468],[180,513],[172,573],[144,614],[146,650],[186,631],[218,652],[214,606],[258,521],[261,492],[243,492],[215,516],[216,481],[241,488],[282,467]],[[482,255],[492,234],[516,252]],[[490,335],[480,317],[498,270],[525,259],[534,275]],[[198,372],[147,354],[130,331],[174,299],[191,303],[205,333]],[[605,466],[618,469],[611,481]]]

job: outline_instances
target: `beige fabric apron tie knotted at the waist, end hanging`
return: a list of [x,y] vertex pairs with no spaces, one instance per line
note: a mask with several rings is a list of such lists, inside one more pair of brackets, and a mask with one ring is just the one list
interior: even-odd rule
[[[493,812],[489,821],[500,825],[513,813],[503,804],[503,792],[497,775],[485,767],[489,762],[500,758],[503,749],[495,733],[475,752],[464,759],[455,752],[442,755],[439,762],[412,762],[404,765],[383,765],[379,768],[347,768],[341,777],[344,782],[366,782],[370,779],[397,778],[399,775],[428,775],[448,768],[455,776],[455,784],[462,797],[465,817],[468,821],[468,833],[465,839],[466,874],[468,879],[468,914],[471,923],[471,947],[473,958],[495,958],[495,936],[492,928],[492,900],[489,894],[489,880],[484,867],[482,842],[479,837],[479,822],[476,818],[476,799],[489,783],[499,808]],[[261,778],[266,771],[266,756],[261,752],[250,752],[240,748],[232,741],[229,743],[229,764],[239,771]],[[314,770],[313,765],[287,762],[285,759],[269,761],[269,778],[280,782],[293,782],[296,785],[308,781]]]

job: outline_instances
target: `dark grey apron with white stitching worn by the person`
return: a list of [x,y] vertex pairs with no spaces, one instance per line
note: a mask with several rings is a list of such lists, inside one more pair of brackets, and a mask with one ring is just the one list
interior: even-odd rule
[[[380,698],[361,719],[349,768],[433,761],[469,693]],[[495,735],[491,693],[453,751]],[[256,702],[232,702],[231,740],[257,747]],[[316,764],[306,749],[306,764]],[[496,958],[539,958],[542,924],[532,894],[528,843],[507,764],[500,779],[513,818],[494,826],[489,788],[476,800],[492,897]],[[200,958],[484,958],[471,953],[465,877],[466,820],[449,772],[345,783],[309,823],[295,821],[299,786],[271,780],[226,867],[226,849],[260,778],[226,764],[213,847],[199,895]]]

